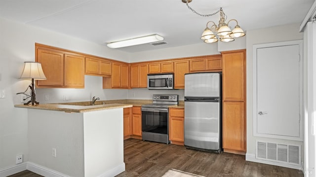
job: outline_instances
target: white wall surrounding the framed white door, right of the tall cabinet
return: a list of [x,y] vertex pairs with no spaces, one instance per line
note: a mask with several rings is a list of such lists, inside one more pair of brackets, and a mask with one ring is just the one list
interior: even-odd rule
[[253,65],[253,51],[254,44],[263,44],[271,42],[280,42],[288,40],[303,39],[303,33],[299,33],[299,24],[290,24],[284,26],[276,26],[272,28],[248,30],[246,38],[246,87],[247,87],[247,153],[246,160],[253,160],[256,153],[256,140],[266,142],[279,142],[287,144],[303,144],[302,142],[286,141],[271,138],[259,138],[253,136],[253,78],[252,78],[252,65]]

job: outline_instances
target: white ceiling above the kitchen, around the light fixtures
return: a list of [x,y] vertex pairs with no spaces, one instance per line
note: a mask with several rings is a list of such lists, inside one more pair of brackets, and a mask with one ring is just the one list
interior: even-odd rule
[[[314,1],[193,0],[189,5],[201,14],[222,7],[228,20],[236,19],[247,31],[301,23]],[[126,52],[203,43],[199,37],[207,21],[219,20],[219,14],[198,16],[181,0],[0,0],[0,17],[102,45],[152,34],[167,42],[117,49]]]

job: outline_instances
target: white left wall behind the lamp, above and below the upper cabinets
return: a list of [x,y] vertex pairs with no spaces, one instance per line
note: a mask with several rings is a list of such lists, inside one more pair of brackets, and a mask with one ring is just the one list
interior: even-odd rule
[[[0,99],[1,173],[7,167],[15,166],[17,154],[23,154],[23,160],[28,161],[27,109],[15,108],[14,105],[21,104],[21,96],[16,93],[23,92],[31,83],[18,78],[23,70],[23,62],[35,61],[36,42],[125,62],[129,61],[129,54],[2,18],[0,18],[0,41],[0,90],[4,89],[6,92],[6,98]],[[103,90],[101,77],[86,76],[85,81],[85,89],[39,89],[37,99],[40,103],[44,103],[43,98],[46,93],[49,94],[51,102],[62,102],[61,95],[64,93],[69,95],[70,101],[87,101],[92,95],[105,99],[127,97],[127,90]]]

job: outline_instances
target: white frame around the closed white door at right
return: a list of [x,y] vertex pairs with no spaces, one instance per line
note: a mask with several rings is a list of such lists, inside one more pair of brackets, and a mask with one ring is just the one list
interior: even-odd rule
[[[287,45],[299,45],[299,57],[300,57],[300,85],[299,85],[299,100],[300,100],[300,122],[299,122],[299,137],[281,136],[281,135],[270,135],[262,134],[257,132],[257,49],[267,48],[267,47],[279,47]],[[266,137],[266,138],[276,138],[282,140],[292,140],[292,141],[303,141],[303,40],[291,40],[284,42],[274,42],[266,44],[256,44],[253,45],[253,136],[255,137]]]

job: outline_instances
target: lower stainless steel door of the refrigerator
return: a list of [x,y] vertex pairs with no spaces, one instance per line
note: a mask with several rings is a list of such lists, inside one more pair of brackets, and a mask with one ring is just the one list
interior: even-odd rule
[[184,145],[219,150],[222,145],[220,103],[185,102]]

